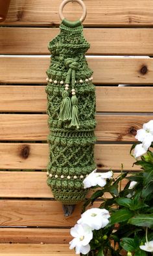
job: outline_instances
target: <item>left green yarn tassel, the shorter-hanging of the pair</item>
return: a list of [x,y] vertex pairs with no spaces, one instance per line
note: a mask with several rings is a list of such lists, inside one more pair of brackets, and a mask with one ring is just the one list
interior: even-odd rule
[[62,92],[62,103],[60,106],[60,114],[59,114],[59,120],[60,121],[69,121],[71,120],[71,99],[69,98],[69,93],[64,90]]

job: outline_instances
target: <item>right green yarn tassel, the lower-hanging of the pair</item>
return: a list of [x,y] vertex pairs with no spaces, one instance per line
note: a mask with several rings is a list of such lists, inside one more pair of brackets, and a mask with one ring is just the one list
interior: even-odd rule
[[72,119],[69,127],[76,127],[77,129],[79,128],[79,120],[78,120],[78,99],[76,95],[73,95],[71,97],[71,103],[72,103]]

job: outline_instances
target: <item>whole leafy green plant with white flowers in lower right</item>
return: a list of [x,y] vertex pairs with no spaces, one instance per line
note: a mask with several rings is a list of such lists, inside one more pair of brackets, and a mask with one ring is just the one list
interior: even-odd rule
[[[135,136],[139,142],[131,149],[134,164],[141,172],[123,171],[113,179],[113,172],[96,170],[84,179],[84,188],[95,189],[86,199],[80,220],[71,228],[74,237],[70,249],[87,256],[153,255],[153,120],[145,123]],[[141,159],[139,159],[141,157]],[[123,179],[127,183],[121,188]],[[105,193],[110,198],[104,197]],[[86,210],[101,198],[99,208]],[[86,211],[85,211],[86,210]]]

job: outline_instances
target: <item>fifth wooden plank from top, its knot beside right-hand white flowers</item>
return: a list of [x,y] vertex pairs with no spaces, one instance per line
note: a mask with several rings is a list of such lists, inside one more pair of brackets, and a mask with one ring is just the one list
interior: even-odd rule
[[[47,140],[47,114],[0,114],[0,140]],[[135,141],[135,133],[153,116],[97,114],[99,141]]]

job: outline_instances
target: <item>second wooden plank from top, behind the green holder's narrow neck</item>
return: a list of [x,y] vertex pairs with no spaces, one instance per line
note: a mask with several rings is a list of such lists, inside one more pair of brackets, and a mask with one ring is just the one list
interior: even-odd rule
[[[1,27],[0,53],[49,55],[47,44],[58,33],[54,28]],[[91,45],[88,54],[153,55],[153,29],[84,29],[84,36]]]

